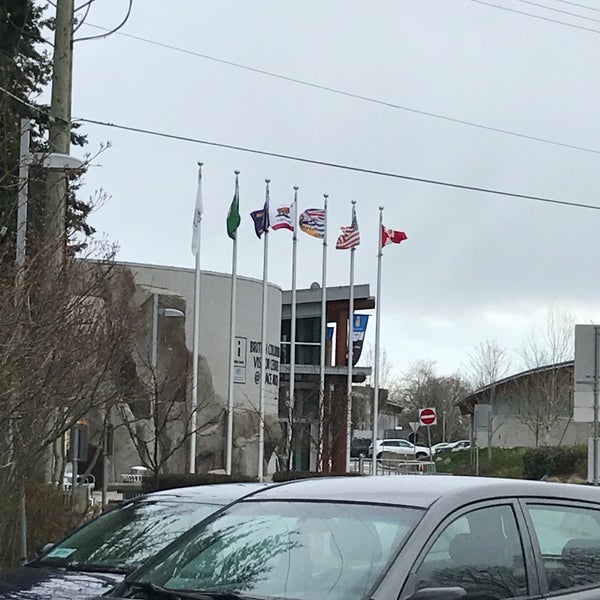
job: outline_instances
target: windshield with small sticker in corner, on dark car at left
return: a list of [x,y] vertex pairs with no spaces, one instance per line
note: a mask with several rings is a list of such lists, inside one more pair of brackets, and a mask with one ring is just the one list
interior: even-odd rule
[[219,508],[166,500],[129,502],[90,521],[34,564],[131,571]]

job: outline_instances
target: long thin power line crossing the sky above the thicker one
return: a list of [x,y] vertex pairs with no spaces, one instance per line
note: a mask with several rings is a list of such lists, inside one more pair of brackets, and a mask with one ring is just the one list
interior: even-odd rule
[[[473,0],[473,1],[476,1],[476,0]],[[100,30],[108,31],[108,29],[106,27],[102,27],[100,25],[94,25],[92,23],[86,23],[85,25],[88,26],[88,27],[93,27],[95,29],[100,29]],[[598,33],[600,33],[600,32],[598,32]],[[559,142],[557,140],[551,140],[549,138],[543,138],[543,137],[535,136],[535,135],[528,135],[526,133],[520,133],[520,132],[517,132],[517,131],[512,131],[510,129],[504,129],[502,127],[492,127],[490,125],[484,125],[482,123],[476,123],[474,121],[468,121],[466,119],[459,119],[459,118],[456,118],[456,117],[451,117],[451,116],[443,115],[443,114],[440,114],[440,113],[434,113],[434,112],[431,112],[431,111],[421,110],[421,109],[418,109],[418,108],[413,108],[413,107],[405,106],[405,105],[402,105],[402,104],[396,104],[394,102],[388,102],[387,100],[381,100],[381,99],[373,98],[373,97],[370,97],[370,96],[364,96],[362,94],[355,94],[353,92],[348,92],[346,90],[341,90],[339,88],[334,88],[334,87],[326,86],[326,85],[320,85],[318,83],[313,83],[313,82],[306,81],[306,80],[303,80],[303,79],[298,79],[296,77],[290,77],[288,75],[282,75],[281,73],[275,73],[273,71],[267,71],[265,69],[259,69],[257,67],[251,67],[249,65],[244,65],[244,64],[241,64],[241,63],[238,63],[238,62],[234,62],[234,61],[231,61],[231,60],[226,60],[226,59],[223,59],[223,58],[218,58],[216,56],[211,56],[209,54],[203,54],[201,52],[196,52],[194,50],[188,50],[186,48],[181,48],[181,47],[178,47],[178,46],[173,46],[171,44],[165,44],[163,42],[158,42],[156,40],[151,40],[151,39],[148,39],[148,38],[143,38],[143,37],[140,37],[140,36],[137,36],[137,35],[132,35],[130,33],[118,32],[117,35],[120,35],[120,36],[123,36],[123,37],[126,37],[126,38],[130,38],[130,39],[133,39],[133,40],[137,40],[137,41],[140,41],[140,42],[145,42],[147,44],[151,44],[153,46],[158,46],[160,48],[166,48],[168,50],[173,50],[175,52],[181,52],[183,54],[188,54],[190,56],[196,56],[196,57],[199,57],[199,58],[203,58],[205,60],[209,60],[209,61],[216,62],[216,63],[219,63],[219,64],[224,64],[224,65],[227,65],[227,66],[230,66],[230,67],[235,67],[237,69],[243,69],[245,71],[250,71],[252,73],[258,73],[260,75],[265,75],[267,77],[273,77],[275,79],[280,79],[282,81],[288,81],[288,82],[291,82],[291,83],[295,83],[295,84],[298,84],[298,85],[303,85],[303,86],[310,87],[310,88],[313,88],[313,89],[317,89],[317,90],[321,90],[321,91],[325,91],[325,92],[330,92],[332,94],[337,94],[339,96],[345,96],[347,98],[353,98],[354,100],[360,100],[360,101],[363,101],[363,102],[370,102],[372,104],[378,104],[380,106],[386,106],[388,108],[393,108],[393,109],[396,109],[396,110],[403,110],[403,111],[411,112],[411,113],[418,114],[418,115],[421,115],[421,116],[432,117],[434,119],[440,119],[440,120],[443,120],[443,121],[448,121],[450,123],[457,123],[459,125],[467,125],[468,127],[475,127],[477,129],[483,129],[485,131],[491,131],[493,133],[500,133],[500,134],[503,134],[503,135],[510,135],[510,136],[513,136],[513,137],[518,137],[518,138],[522,138],[522,139],[526,139],[526,140],[530,140],[530,141],[534,141],[534,142],[540,142],[540,143],[543,143],[543,144],[550,144],[552,146],[558,146],[560,148],[568,148],[569,150],[577,150],[577,151],[580,151],[580,152],[589,152],[589,153],[592,153],[592,154],[600,154],[600,150],[597,150],[595,148],[589,148],[587,146],[579,146],[577,144],[568,144],[566,142]]]

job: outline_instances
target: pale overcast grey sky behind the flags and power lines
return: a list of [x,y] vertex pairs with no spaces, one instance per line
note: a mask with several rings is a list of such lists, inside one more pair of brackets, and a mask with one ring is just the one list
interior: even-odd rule
[[[600,1],[585,0],[600,9]],[[600,151],[600,12],[540,0],[134,0],[121,30],[185,50],[422,111]],[[112,27],[127,0],[96,0],[88,23]],[[79,36],[98,30],[83,26]],[[332,94],[130,39],[75,44],[73,116],[203,140],[600,206],[600,154],[507,136]],[[248,213],[300,209],[330,195],[329,285],[348,283],[336,251],[357,201],[356,282],[375,294],[377,207],[408,241],[384,251],[382,345],[398,372],[418,359],[459,369],[486,338],[517,349],[554,305],[600,317],[600,211],[543,204],[85,125],[89,151],[110,141],[85,194],[111,198],[91,217],[122,260],[193,266],[196,162],[204,162],[202,267],[227,272],[225,215],[240,175],[239,272],[262,276]],[[270,277],[290,286],[289,232],[271,236]],[[319,241],[300,235],[299,286],[320,281]],[[368,339],[373,339],[374,322]],[[224,332],[226,335],[226,332]]]

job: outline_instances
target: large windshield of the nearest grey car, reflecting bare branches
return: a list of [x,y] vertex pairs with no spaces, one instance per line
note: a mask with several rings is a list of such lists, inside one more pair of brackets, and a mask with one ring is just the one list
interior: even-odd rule
[[182,536],[135,580],[181,592],[358,600],[422,514],[373,504],[244,502]]

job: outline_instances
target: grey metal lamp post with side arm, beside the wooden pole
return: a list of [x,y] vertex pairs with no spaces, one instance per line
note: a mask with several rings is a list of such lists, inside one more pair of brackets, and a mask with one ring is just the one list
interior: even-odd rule
[[[19,146],[19,192],[17,196],[17,236],[16,236],[16,286],[15,302],[21,297],[23,284],[23,268],[27,251],[27,204],[29,191],[29,167],[32,164],[53,171],[74,171],[83,166],[78,158],[68,154],[33,152],[29,150],[31,134],[31,121],[21,119],[21,139]],[[27,560],[27,510],[25,505],[25,490],[21,495],[20,507],[21,520],[21,556]]]

